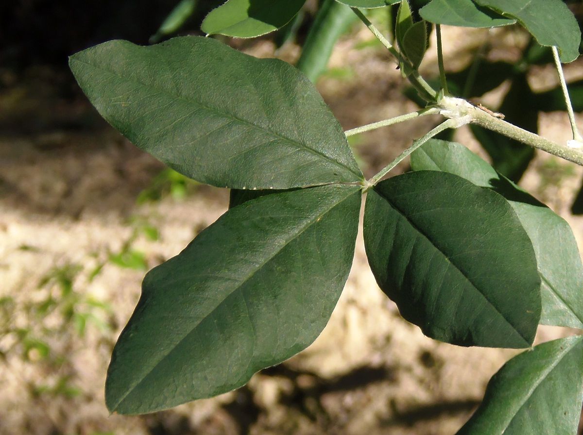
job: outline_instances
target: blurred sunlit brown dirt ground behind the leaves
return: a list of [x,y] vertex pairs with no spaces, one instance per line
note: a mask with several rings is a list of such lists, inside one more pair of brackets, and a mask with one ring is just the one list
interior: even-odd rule
[[[492,38],[486,30],[444,33],[454,70]],[[347,74],[318,83],[343,126],[415,110],[391,59],[374,44],[357,49],[370,40],[367,32],[353,36],[331,61],[332,71]],[[512,56],[505,38],[521,41],[521,34],[499,36],[490,55]],[[267,41],[243,48],[273,54]],[[289,47],[280,55],[293,59],[296,52]],[[423,70],[434,75],[431,53]],[[581,78],[581,66],[570,65],[567,76]],[[2,77],[0,434],[453,434],[490,376],[514,355],[424,337],[377,288],[359,236],[343,296],[310,348],[215,399],[147,416],[108,415],[107,364],[138,300],[143,268],[180,252],[226,210],[228,193],[187,185],[177,199],[156,186],[161,165],[108,128],[82,98],[62,97],[59,77],[45,70]],[[557,82],[547,69],[529,78],[538,89]],[[499,94],[484,102],[495,104]],[[366,175],[434,122],[423,118],[361,136],[356,150]],[[540,132],[569,139],[566,115],[542,116]],[[479,149],[466,130],[456,139]],[[581,175],[581,168],[540,153],[522,183],[567,218],[579,241],[583,221],[569,207]],[[136,203],[146,189],[161,189],[160,199]],[[538,341],[570,333],[541,328]]]

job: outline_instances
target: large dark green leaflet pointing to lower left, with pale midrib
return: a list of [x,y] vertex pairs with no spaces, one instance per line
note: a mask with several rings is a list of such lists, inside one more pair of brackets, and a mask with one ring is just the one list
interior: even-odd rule
[[115,345],[108,408],[145,413],[221,394],[310,345],[346,282],[359,210],[358,186],[272,193],[153,268]]

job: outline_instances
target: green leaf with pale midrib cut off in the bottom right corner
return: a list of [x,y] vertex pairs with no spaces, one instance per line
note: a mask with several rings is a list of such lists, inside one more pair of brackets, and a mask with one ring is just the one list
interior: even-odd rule
[[583,400],[583,337],[522,352],[496,373],[457,435],[575,434]]

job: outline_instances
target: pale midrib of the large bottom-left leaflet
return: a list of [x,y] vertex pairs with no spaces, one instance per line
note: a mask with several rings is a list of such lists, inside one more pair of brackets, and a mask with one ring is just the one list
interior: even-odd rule
[[[330,211],[332,211],[333,208],[338,207],[341,203],[343,203],[344,201],[346,201],[350,196],[352,196],[353,194],[356,194],[357,191],[352,191],[349,192],[345,197],[343,197],[342,199],[339,199],[336,203],[334,203],[331,207],[329,207],[328,209],[326,209],[324,212],[319,213],[317,215],[315,215],[314,218],[312,219],[308,219],[307,222],[305,222],[305,226],[304,227],[300,227],[298,228],[298,232],[296,234],[294,234],[292,237],[290,237],[289,240],[287,240],[278,250],[276,250],[275,252],[273,252],[273,254],[271,255],[271,257],[269,257],[269,259],[267,259],[264,263],[259,264],[257,267],[255,267],[254,269],[252,269],[251,273],[249,273],[247,275],[247,277],[244,278],[243,281],[239,281],[236,285],[236,287],[233,288],[233,290],[231,292],[229,292],[228,294],[226,294],[224,296],[224,298],[212,309],[209,310],[208,314],[206,314],[205,316],[201,316],[200,320],[198,321],[198,323],[196,323],[190,331],[188,331],[187,334],[184,335],[184,337],[182,337],[180,340],[178,340],[176,342],[176,344],[173,346],[173,348],[171,348],[165,355],[161,356],[161,358],[159,360],[157,360],[156,363],[154,363],[154,365],[147,370],[147,372],[145,372],[145,374],[143,374],[143,376],[141,377],[141,379],[139,379],[137,382],[135,382],[131,387],[129,387],[127,389],[127,392],[125,392],[124,395],[122,395],[122,397],[117,401],[117,403],[115,404],[115,406],[113,406],[113,409],[111,409],[112,412],[117,411],[118,406],[120,406],[122,404],[122,402],[125,401],[125,399],[128,397],[129,394],[131,394],[132,391],[135,390],[135,388],[137,388],[138,386],[140,386],[142,384],[142,382],[146,379],[147,376],[149,376],[150,374],[152,374],[152,372],[156,369],[157,366],[160,365],[160,363],[167,358],[168,355],[170,355],[178,346],[180,346],[180,344],[189,337],[190,334],[194,333],[194,331],[196,330],[196,328],[198,328],[199,324],[202,323],[203,320],[205,320],[207,317],[210,316],[210,314],[212,314],[213,312],[215,312],[223,303],[225,300],[229,299],[229,297],[231,295],[233,295],[233,293],[235,293],[236,291],[240,291],[241,287],[243,287],[243,285],[249,281],[252,277],[254,277],[254,275],[261,270],[264,266],[266,266],[266,264],[268,264],[270,261],[272,261],[276,256],[279,255],[280,252],[282,252],[283,249],[285,249],[285,247],[287,245],[289,245],[289,243],[291,243],[292,241],[294,241],[295,239],[297,239],[301,234],[303,234],[308,228],[310,228],[312,225],[317,224],[321,218],[329,213]],[[245,302],[246,304],[246,302]]]

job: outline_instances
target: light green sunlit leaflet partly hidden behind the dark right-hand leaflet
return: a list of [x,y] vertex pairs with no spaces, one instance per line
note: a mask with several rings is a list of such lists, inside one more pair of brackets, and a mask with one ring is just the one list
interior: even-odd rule
[[415,171],[445,171],[496,190],[514,208],[535,249],[541,277],[540,323],[583,328],[583,265],[563,218],[455,142],[430,140],[411,155]]

